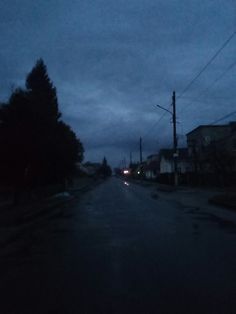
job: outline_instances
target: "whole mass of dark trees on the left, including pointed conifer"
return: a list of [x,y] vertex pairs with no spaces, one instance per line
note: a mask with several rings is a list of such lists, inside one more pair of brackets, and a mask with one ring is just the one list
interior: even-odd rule
[[60,120],[56,89],[39,60],[0,107],[1,181],[16,187],[62,182],[83,159],[82,143]]

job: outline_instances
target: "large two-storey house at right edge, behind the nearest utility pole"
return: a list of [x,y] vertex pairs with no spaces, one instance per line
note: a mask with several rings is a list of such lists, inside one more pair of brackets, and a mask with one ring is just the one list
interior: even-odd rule
[[186,136],[198,181],[211,184],[229,181],[236,172],[236,122],[200,125]]

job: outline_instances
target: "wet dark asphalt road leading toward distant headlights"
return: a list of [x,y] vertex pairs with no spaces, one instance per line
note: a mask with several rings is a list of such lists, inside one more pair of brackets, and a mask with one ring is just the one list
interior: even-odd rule
[[156,196],[111,178],[31,229],[0,313],[236,313],[235,224]]

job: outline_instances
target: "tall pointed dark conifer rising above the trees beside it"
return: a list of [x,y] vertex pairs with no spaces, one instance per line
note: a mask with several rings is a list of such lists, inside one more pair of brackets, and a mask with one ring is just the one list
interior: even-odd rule
[[50,182],[63,180],[72,175],[75,163],[82,160],[83,146],[60,120],[56,88],[42,59],[28,74],[26,88],[35,118],[34,176]]

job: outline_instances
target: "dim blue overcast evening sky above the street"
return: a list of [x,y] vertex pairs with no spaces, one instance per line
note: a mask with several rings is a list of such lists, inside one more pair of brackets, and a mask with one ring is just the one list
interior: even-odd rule
[[[234,31],[235,0],[0,0],[0,100],[43,58],[86,160],[116,166],[138,159],[140,136],[145,156],[170,147],[156,104],[169,108]],[[180,145],[236,110],[234,62],[236,35],[177,98]]]

